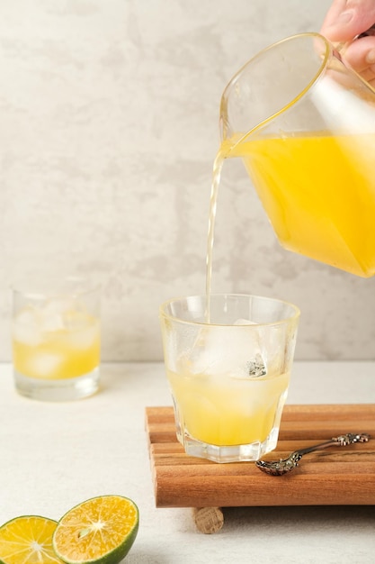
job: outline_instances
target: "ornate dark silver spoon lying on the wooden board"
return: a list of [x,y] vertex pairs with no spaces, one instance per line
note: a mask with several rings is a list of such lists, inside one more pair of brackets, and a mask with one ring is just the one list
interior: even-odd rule
[[348,432],[346,435],[340,435],[339,437],[334,437],[330,441],[320,442],[312,447],[307,447],[306,449],[294,450],[290,452],[287,459],[280,460],[257,460],[255,466],[265,472],[270,474],[270,476],[282,476],[291,472],[294,468],[299,466],[299,460],[309,452],[314,452],[315,450],[326,449],[326,447],[339,446],[346,447],[348,444],[353,444],[354,442],[367,442],[370,440],[370,435],[368,433],[353,434]]

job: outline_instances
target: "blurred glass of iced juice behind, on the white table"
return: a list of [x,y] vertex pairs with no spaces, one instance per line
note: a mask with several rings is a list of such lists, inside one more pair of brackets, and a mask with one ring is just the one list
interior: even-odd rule
[[57,291],[13,290],[13,373],[22,396],[64,401],[99,386],[98,287],[71,278]]

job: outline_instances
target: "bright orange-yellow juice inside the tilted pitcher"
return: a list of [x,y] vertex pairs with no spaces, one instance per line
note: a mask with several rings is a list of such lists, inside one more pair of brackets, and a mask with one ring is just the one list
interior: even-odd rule
[[282,246],[375,274],[375,134],[229,140],[222,151],[244,159]]

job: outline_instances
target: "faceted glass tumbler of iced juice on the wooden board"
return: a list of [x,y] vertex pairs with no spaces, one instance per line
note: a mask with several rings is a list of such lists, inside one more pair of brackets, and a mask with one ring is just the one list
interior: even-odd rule
[[276,447],[299,308],[246,295],[173,299],[160,308],[178,440],[192,456],[256,460]]

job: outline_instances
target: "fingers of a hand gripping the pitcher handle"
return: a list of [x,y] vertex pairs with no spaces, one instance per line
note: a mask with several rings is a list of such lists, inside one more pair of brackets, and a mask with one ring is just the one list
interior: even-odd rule
[[375,86],[375,35],[355,38],[374,23],[375,0],[333,0],[320,30],[328,41],[347,43],[341,51],[343,59],[372,86]]

